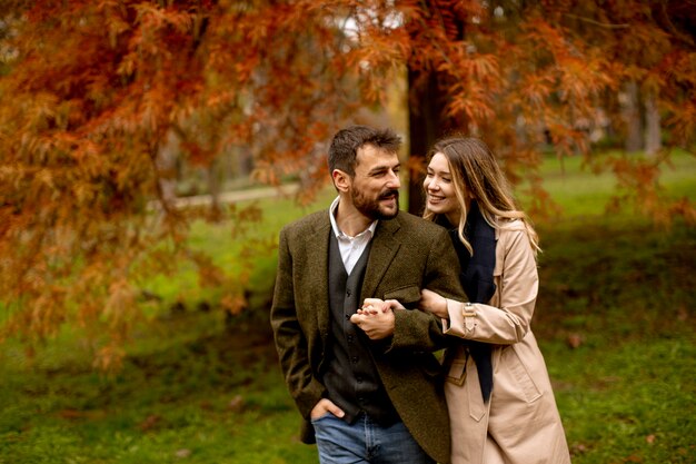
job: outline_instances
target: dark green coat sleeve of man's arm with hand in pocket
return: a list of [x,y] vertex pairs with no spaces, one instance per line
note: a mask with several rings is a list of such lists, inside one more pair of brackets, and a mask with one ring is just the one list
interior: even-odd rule
[[280,233],[278,244],[278,272],[270,323],[280,367],[290,395],[300,414],[309,418],[314,406],[325,396],[326,388],[312,374],[307,340],[297,317],[292,286],[292,255],[286,229]]

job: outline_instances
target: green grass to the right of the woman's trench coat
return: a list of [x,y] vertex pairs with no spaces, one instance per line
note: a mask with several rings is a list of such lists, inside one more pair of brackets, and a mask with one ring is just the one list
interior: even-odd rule
[[689,463],[696,230],[629,225],[541,228],[535,333],[575,463]]

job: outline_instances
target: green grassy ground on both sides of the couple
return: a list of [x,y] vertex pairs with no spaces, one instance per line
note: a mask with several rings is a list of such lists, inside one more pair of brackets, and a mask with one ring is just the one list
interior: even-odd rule
[[[675,158],[668,195],[696,192],[696,160]],[[548,189],[564,215],[539,224],[541,293],[534,328],[545,353],[575,464],[696,461],[696,230],[652,227],[630,214],[601,216],[610,177],[579,161],[550,160]],[[327,197],[330,192],[327,194]],[[274,234],[306,210],[269,211]],[[232,266],[222,226],[193,240]],[[123,369],[91,368],[78,332],[30,362],[19,344],[0,351],[0,463],[315,463],[277,366],[267,324],[274,257],[259,260],[251,312],[226,327],[219,312],[162,310],[133,334]],[[168,302],[208,294],[179,279],[153,282]]]

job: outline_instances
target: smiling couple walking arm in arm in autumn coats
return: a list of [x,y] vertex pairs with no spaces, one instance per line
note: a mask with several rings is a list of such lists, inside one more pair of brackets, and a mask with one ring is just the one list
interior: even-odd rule
[[270,319],[302,441],[322,464],[569,463],[529,327],[531,225],[471,138],[432,148],[425,219],[399,211],[399,146],[340,130],[338,197],[280,233]]

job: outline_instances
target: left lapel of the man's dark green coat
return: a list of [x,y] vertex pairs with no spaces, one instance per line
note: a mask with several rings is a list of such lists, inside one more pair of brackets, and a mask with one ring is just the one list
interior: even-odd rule
[[315,224],[314,233],[307,237],[307,253],[305,261],[305,273],[310,276],[307,279],[311,283],[308,289],[309,306],[319,308],[312,310],[317,316],[317,328],[321,334],[321,338],[326,343],[326,336],[329,333],[329,233],[331,223],[329,214],[321,216]]

